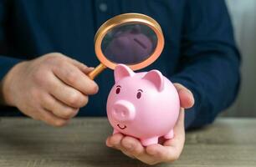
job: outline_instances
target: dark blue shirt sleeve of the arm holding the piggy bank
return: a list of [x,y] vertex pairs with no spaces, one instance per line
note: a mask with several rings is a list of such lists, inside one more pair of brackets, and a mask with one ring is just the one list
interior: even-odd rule
[[192,90],[195,105],[186,112],[186,128],[212,123],[238,94],[240,56],[223,0],[187,0],[181,59],[172,82]]

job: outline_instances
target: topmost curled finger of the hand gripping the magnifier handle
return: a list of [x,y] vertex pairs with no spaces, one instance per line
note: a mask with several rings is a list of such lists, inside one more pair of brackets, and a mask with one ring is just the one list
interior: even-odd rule
[[96,94],[98,85],[72,63],[61,63],[54,68],[54,74],[64,83],[79,90],[82,94]]

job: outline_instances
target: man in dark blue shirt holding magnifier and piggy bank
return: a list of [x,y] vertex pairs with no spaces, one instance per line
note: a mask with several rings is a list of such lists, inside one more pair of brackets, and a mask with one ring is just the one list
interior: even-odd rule
[[210,124],[238,92],[240,59],[223,0],[0,2],[1,115],[23,113],[54,126],[77,114],[105,115],[113,73],[106,70],[95,81],[87,73],[99,63],[97,28],[120,13],[144,13],[160,23],[164,51],[143,70],[156,68],[170,78],[182,109],[174,139],[144,148],[115,134],[108,146],[147,164],[171,162],[184,144],[183,109],[193,106],[186,112],[187,128]]

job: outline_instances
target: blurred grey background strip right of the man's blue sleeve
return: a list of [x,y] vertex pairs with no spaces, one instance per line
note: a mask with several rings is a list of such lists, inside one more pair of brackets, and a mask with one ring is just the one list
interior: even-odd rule
[[226,0],[242,54],[238,99],[223,116],[256,117],[256,0]]

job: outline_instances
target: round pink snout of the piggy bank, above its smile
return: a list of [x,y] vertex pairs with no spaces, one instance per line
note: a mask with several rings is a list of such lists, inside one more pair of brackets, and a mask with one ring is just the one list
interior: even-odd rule
[[131,102],[126,100],[116,101],[111,109],[111,113],[114,119],[117,121],[129,121],[135,118],[136,109]]

